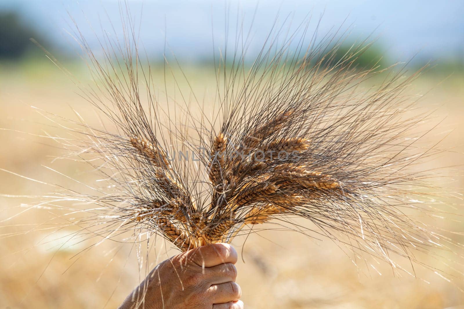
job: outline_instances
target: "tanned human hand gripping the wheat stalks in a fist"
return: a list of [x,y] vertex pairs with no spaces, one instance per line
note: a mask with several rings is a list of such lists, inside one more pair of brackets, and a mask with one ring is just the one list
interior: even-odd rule
[[157,265],[119,309],[243,309],[236,262],[228,244],[182,252]]

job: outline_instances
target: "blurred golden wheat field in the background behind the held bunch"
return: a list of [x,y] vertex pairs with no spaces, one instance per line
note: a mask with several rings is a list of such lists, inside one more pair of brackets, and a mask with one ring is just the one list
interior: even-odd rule
[[[52,63],[3,65],[0,70],[0,128],[8,129],[0,131],[0,168],[42,182],[59,183],[65,188],[76,185],[71,178],[94,182],[96,176],[83,164],[64,159],[52,162],[66,151],[39,135],[59,136],[63,129],[31,108],[74,119],[72,107],[84,119],[90,119],[90,124],[99,125],[95,111],[75,93],[76,87],[71,80]],[[79,81],[90,82],[84,70],[77,70],[81,72],[77,76]],[[195,93],[205,94],[207,98],[208,89],[204,85],[214,84],[213,74],[194,66],[187,67],[186,72],[187,76],[189,73],[195,76],[192,80]],[[155,80],[163,79],[162,72],[155,75]],[[430,166],[423,170],[451,165],[459,169],[463,163],[463,84],[462,74],[447,79],[425,74],[409,89],[412,93],[432,89],[419,105],[436,110],[437,119],[446,117],[438,132],[453,130],[444,141],[446,148],[452,151],[443,154],[439,161],[427,163]],[[0,171],[0,179],[0,193],[4,195],[44,195],[52,191],[48,185],[5,171]],[[459,175],[453,186],[464,187],[464,177]],[[66,241],[76,227],[56,229],[54,224],[65,218],[56,218],[52,209],[27,210],[27,205],[21,204],[30,201],[14,196],[1,196],[0,202],[1,308],[116,308],[142,280],[131,245],[107,240],[89,247],[97,240]],[[460,231],[455,234],[455,240],[463,243],[462,201],[449,199],[445,202],[456,214],[448,215],[451,220],[439,221],[437,225]],[[10,219],[6,221],[7,218]],[[52,232],[53,237],[50,237]],[[244,237],[239,237],[233,245],[239,254],[242,252],[237,265],[237,282],[249,309],[464,308],[464,293],[441,277],[429,272],[418,272],[418,277],[424,280],[394,277],[391,266],[383,264],[377,267],[382,274],[379,275],[366,265],[355,266],[337,244],[327,239],[269,230],[251,234],[246,242]],[[156,252],[151,254],[162,261],[177,251],[159,241]],[[432,261],[432,257],[423,257],[428,258]],[[457,267],[464,271],[462,266]]]

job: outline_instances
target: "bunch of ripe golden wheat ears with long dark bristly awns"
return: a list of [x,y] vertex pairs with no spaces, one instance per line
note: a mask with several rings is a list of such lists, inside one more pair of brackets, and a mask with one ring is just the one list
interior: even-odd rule
[[[73,192],[73,201],[97,205],[76,224],[97,227],[92,233],[105,238],[161,235],[186,251],[231,242],[268,221],[301,231],[294,218],[302,217],[316,226],[310,235],[396,269],[402,267],[392,254],[421,264],[412,250],[461,247],[405,214],[431,207],[417,196],[432,195],[425,181],[438,174],[412,167],[441,152],[416,145],[428,114],[416,112],[403,92],[419,72],[404,77],[403,69],[358,68],[364,43],[337,58],[336,34],[308,43],[307,29],[299,29],[272,32],[251,64],[246,46],[237,43],[232,61],[214,61],[213,111],[194,95],[174,100],[166,94],[175,114],[159,103],[131,26],[123,40],[102,45],[102,58],[77,32],[97,82],[84,97],[114,129],[82,123],[72,130],[88,138],[77,141],[79,156],[95,155],[100,161],[84,160],[110,183],[97,195]],[[236,42],[243,40],[238,34]],[[170,68],[165,63],[165,75]],[[363,87],[371,78],[380,83]],[[71,147],[76,140],[63,143]]]

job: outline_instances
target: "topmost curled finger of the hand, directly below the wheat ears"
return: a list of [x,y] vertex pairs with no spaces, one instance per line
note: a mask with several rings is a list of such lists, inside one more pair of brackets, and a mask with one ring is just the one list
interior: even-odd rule
[[202,267],[237,263],[237,251],[229,244],[212,244],[187,251],[188,260]]

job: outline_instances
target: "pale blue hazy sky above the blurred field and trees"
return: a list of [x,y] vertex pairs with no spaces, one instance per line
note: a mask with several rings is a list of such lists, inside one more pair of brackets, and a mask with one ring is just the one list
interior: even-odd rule
[[[0,10],[15,9],[25,19],[48,33],[61,46],[72,45],[68,13],[91,44],[96,44],[93,29],[117,25],[117,0],[1,0]],[[230,7],[231,22],[238,11],[244,16],[245,29],[254,10],[254,38],[264,38],[277,13],[280,20],[288,14],[294,24],[312,16],[311,27],[322,15],[319,33],[333,32],[343,24],[353,38],[379,37],[382,49],[392,60],[406,61],[418,53],[421,60],[460,57],[464,54],[464,1],[367,1],[367,0],[129,0],[137,21],[141,20],[140,40],[149,53],[161,54],[165,37],[178,57],[201,58],[211,55],[212,28],[216,44],[224,42],[225,12]],[[140,18],[140,13],[142,17]],[[117,29],[116,29],[117,32]],[[253,39],[253,42],[255,40]],[[251,49],[258,49],[259,44]]]

